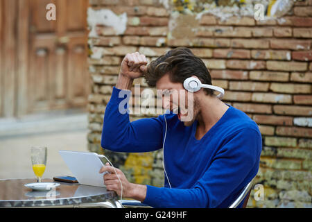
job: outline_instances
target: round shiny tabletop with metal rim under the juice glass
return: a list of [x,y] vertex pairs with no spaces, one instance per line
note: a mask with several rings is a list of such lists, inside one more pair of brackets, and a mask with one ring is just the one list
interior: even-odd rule
[[[33,179],[0,180],[0,207],[49,207],[98,203],[117,198],[114,191],[105,187],[58,182],[60,186],[49,191],[35,191],[24,185],[37,182]],[[42,182],[54,182],[43,179]]]

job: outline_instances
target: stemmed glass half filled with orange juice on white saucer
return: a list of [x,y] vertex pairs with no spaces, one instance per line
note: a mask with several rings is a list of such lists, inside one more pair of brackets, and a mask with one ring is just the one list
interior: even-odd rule
[[31,164],[33,165],[33,172],[37,176],[37,182],[41,182],[42,175],[46,169],[47,156],[48,151],[46,146],[31,147]]

